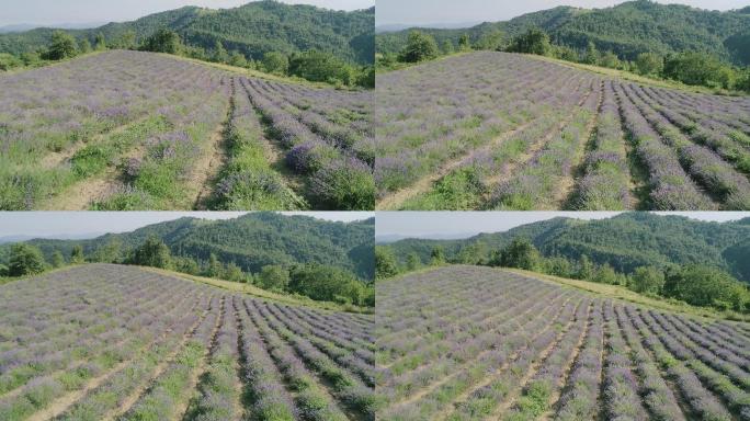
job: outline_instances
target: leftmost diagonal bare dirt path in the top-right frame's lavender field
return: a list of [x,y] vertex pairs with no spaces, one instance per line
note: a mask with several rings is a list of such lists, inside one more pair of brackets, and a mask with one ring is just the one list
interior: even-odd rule
[[471,149],[467,153],[448,160],[446,162],[443,162],[443,164],[438,169],[438,171],[425,175],[419,180],[417,180],[414,183],[411,185],[404,187],[397,192],[390,193],[386,195],[385,197],[380,198],[377,201],[377,205],[375,208],[377,210],[393,210],[397,209],[404,202],[407,200],[414,197],[419,194],[427,193],[430,191],[432,187],[432,184],[434,184],[436,181],[442,179],[443,177],[447,175],[451,171],[455,170],[456,168],[463,166],[464,163],[470,161],[473,158],[490,151],[491,149],[500,146],[502,143],[508,140],[510,137],[513,135],[518,134],[519,132],[524,130],[525,128],[530,127],[535,121],[522,124],[510,132],[505,132],[502,135],[496,137],[495,139],[490,140],[489,143],[485,144],[484,146],[480,146],[479,148]]

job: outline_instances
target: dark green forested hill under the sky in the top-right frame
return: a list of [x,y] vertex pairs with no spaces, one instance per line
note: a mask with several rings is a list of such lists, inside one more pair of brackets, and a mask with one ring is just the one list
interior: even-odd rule
[[[424,30],[439,45],[462,34],[474,44],[500,30],[508,42],[530,27],[547,32],[553,44],[583,49],[592,42],[600,52],[614,52],[633,60],[639,53],[660,55],[684,50],[705,52],[720,59],[750,65],[750,7],[728,12],[660,4],[636,0],[605,9],[558,7],[524,14],[507,22],[482,23],[466,30]],[[409,30],[378,34],[379,53],[397,53],[406,45]]]

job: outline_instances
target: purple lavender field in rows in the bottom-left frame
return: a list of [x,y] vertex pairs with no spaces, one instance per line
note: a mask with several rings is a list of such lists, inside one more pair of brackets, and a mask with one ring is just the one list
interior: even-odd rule
[[372,420],[373,317],[90,264],[0,286],[2,420]]

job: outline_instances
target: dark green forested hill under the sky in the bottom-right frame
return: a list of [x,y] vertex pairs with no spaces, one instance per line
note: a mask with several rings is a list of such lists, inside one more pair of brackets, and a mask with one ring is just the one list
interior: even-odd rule
[[435,247],[442,247],[448,260],[459,260],[462,254],[489,257],[516,237],[529,238],[546,257],[579,260],[586,254],[595,263],[609,263],[626,273],[643,265],[703,263],[750,282],[750,218],[706,223],[648,213],[591,221],[554,218],[465,240],[407,239],[389,247],[401,261],[417,253],[427,263]]

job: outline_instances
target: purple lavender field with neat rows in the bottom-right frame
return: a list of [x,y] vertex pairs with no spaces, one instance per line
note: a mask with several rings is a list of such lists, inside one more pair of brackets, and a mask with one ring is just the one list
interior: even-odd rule
[[750,326],[478,266],[377,286],[379,420],[748,420]]

